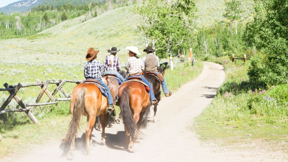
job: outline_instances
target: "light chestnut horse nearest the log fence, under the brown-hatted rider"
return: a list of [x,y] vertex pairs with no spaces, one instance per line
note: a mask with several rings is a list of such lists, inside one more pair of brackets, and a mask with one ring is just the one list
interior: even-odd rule
[[[103,80],[107,84],[106,80]],[[73,159],[75,149],[75,135],[79,129],[82,115],[87,116],[88,125],[86,128],[86,151],[90,154],[92,147],[92,131],[96,116],[101,115],[102,139],[101,144],[105,144],[105,120],[106,120],[107,98],[102,95],[98,86],[93,83],[80,83],[73,89],[70,101],[72,119],[63,143],[71,142],[70,150],[67,154],[69,159]]]

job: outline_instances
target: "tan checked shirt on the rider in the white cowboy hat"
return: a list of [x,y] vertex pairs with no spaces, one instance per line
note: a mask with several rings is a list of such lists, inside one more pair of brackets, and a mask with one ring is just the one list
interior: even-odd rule
[[139,58],[132,56],[128,59],[125,69],[128,70],[128,74],[137,74],[142,73],[142,70],[144,70],[144,66],[142,63],[142,60]]

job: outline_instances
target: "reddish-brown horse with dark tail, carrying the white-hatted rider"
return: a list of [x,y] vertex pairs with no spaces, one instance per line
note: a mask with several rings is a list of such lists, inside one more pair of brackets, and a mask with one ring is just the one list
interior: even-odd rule
[[145,86],[137,81],[124,82],[119,87],[118,95],[117,105],[120,104],[126,133],[126,146],[130,152],[134,152],[133,145],[139,140],[141,121],[149,106],[150,96]]

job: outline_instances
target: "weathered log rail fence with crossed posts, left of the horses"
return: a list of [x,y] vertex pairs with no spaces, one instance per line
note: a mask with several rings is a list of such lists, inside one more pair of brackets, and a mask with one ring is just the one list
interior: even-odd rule
[[[5,88],[0,88],[0,91],[8,91],[10,93],[10,95],[8,96],[8,98],[4,101],[4,103],[0,107],[0,115],[5,113],[5,112],[25,112],[28,115],[28,117],[32,120],[33,123],[39,124],[39,121],[35,118],[35,116],[32,114],[30,109],[35,107],[35,106],[50,105],[50,104],[58,103],[59,101],[70,100],[71,96],[68,95],[66,93],[66,91],[63,89],[63,85],[67,82],[79,84],[82,81],[81,80],[66,80],[66,79],[57,81],[56,79],[53,78],[52,82],[50,82],[50,79],[47,79],[46,82],[41,82],[39,79],[36,79],[36,82],[37,82],[37,84],[28,84],[28,85],[22,85],[21,83],[19,83],[18,85],[8,85],[7,83],[5,83],[4,84]],[[53,91],[53,93],[50,93],[47,89],[49,84],[56,84],[56,86],[57,86],[57,88]],[[41,91],[40,91],[35,103],[24,104],[21,101],[21,99],[17,96],[17,92],[19,91],[20,88],[31,87],[31,86],[40,86]],[[58,93],[59,91],[61,91],[66,98],[56,98],[55,99],[54,97],[55,97],[56,93]],[[44,93],[46,93],[46,95],[49,97],[49,99],[47,99],[43,103],[39,103]],[[15,99],[15,101],[18,103],[18,105],[22,109],[16,109],[16,108],[5,109],[7,107],[7,105],[12,101],[12,99]]]

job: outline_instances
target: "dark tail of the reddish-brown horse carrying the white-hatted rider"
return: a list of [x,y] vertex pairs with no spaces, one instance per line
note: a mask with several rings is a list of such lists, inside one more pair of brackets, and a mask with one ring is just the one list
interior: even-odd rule
[[135,123],[133,114],[130,110],[130,88],[128,86],[122,91],[120,98],[120,111],[125,130],[128,132],[132,140],[136,139],[137,124]]

